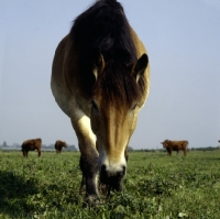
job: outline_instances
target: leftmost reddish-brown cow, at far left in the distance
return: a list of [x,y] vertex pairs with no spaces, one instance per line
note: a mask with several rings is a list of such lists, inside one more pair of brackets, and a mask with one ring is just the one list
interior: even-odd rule
[[41,139],[26,140],[23,142],[21,147],[24,157],[28,157],[29,151],[34,151],[34,150],[36,150],[38,152],[38,156],[41,156],[42,140]]

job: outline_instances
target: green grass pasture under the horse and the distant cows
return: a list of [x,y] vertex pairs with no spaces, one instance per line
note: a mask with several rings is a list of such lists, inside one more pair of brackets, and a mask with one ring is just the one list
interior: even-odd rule
[[220,151],[130,152],[123,193],[82,208],[79,152],[0,151],[0,218],[220,218]]

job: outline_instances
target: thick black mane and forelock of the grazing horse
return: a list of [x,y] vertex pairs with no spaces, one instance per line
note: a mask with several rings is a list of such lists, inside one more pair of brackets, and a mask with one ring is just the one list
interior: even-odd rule
[[[125,101],[129,106],[144,91],[131,74],[136,62],[136,50],[122,6],[117,0],[99,0],[79,14],[70,29],[73,50],[77,54],[77,77],[87,97],[99,90],[110,101]],[[97,83],[94,70],[94,52],[99,51],[107,64]]]

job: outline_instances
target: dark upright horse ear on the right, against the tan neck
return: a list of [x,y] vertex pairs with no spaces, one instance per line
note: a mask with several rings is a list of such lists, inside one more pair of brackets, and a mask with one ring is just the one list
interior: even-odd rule
[[134,75],[136,83],[139,83],[140,76],[144,74],[147,65],[148,56],[145,53],[133,64],[132,74]]

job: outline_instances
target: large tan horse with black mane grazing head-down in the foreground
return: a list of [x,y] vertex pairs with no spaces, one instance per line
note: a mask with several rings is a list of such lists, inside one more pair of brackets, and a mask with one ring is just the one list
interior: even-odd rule
[[100,0],[78,15],[58,44],[52,92],[78,138],[86,200],[96,202],[98,173],[122,190],[128,144],[150,90],[148,56],[117,0]]

